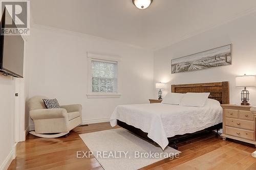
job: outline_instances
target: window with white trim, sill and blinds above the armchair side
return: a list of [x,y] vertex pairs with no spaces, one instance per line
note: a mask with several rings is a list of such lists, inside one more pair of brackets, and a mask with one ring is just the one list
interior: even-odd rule
[[118,94],[118,61],[113,57],[92,55],[89,57],[88,98],[120,98]]

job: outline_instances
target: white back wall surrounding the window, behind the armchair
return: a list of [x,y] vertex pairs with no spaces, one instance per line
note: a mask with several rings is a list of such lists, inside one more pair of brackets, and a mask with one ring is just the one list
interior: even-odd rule
[[[87,52],[117,55],[120,99],[88,99]],[[28,40],[29,96],[82,104],[83,123],[106,121],[117,105],[153,98],[153,52],[95,36],[34,26]],[[32,122],[30,120],[30,125]]]

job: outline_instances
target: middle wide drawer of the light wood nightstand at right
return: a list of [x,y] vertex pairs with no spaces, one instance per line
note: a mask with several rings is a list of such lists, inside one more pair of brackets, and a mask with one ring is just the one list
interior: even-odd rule
[[226,118],[226,125],[237,127],[237,128],[253,130],[253,131],[255,129],[254,122],[247,121],[247,120],[234,119],[234,118]]

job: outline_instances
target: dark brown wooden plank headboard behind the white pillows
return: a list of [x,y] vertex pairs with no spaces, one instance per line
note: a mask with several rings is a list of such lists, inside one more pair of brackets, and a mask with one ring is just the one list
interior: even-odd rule
[[210,99],[229,104],[229,82],[172,85],[172,92],[210,92]]

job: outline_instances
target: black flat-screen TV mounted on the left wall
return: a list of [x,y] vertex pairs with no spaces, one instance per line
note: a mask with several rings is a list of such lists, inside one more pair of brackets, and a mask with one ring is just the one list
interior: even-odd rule
[[20,34],[4,34],[7,19],[12,17],[5,9],[0,23],[0,71],[6,76],[23,78],[24,39]]

